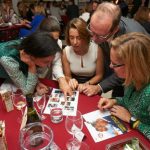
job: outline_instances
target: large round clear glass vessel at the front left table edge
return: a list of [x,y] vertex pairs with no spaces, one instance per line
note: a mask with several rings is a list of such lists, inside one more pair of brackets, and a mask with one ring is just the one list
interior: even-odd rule
[[49,150],[53,144],[53,131],[40,122],[30,123],[20,131],[22,150]]

